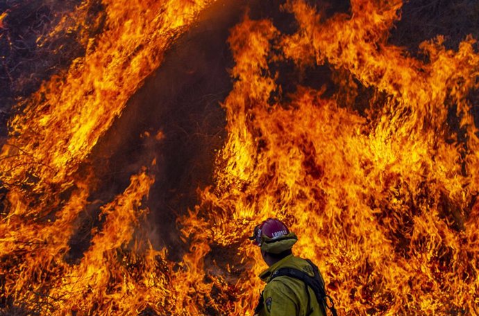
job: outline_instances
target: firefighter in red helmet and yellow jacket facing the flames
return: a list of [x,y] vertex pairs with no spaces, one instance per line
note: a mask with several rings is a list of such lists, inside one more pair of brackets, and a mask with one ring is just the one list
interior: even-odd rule
[[255,227],[250,239],[260,247],[262,258],[269,266],[260,274],[260,279],[267,284],[255,315],[326,316],[326,309],[336,315],[317,266],[292,254],[298,237],[289,232],[283,222],[276,218],[264,220]]

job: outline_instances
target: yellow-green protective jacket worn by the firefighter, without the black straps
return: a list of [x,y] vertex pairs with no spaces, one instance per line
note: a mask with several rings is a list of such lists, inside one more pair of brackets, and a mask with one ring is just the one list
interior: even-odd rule
[[[308,261],[293,256],[292,254],[281,259],[269,269],[260,274],[264,287],[263,306],[258,315],[260,316],[326,316],[319,307],[314,291],[308,287],[306,292],[305,283],[299,279],[281,276],[271,280],[271,275],[282,267],[292,267],[306,272],[314,277],[314,272]],[[319,275],[324,284],[323,277]],[[309,297],[309,310],[308,310]]]

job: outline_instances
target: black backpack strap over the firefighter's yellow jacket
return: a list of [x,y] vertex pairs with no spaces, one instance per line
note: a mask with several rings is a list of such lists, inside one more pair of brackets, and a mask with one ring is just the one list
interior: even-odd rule
[[[308,263],[311,265],[312,270],[314,272],[314,277],[310,277],[309,274],[301,271],[294,269],[293,267],[282,267],[276,272],[274,272],[273,275],[271,275],[271,279],[274,279],[276,277],[292,277],[294,279],[299,279],[305,283],[306,286],[306,294],[308,294],[308,309],[309,309],[309,293],[308,293],[308,286],[312,288],[314,291],[314,294],[316,295],[316,299],[319,303],[319,307],[323,310],[324,315],[326,315],[326,308],[330,310],[330,312],[333,314],[333,316],[337,316],[337,311],[335,309],[333,299],[329,295],[326,295],[326,290],[324,289],[323,282],[321,282],[321,279],[319,279],[319,269],[314,263],[312,263],[310,260],[307,260]],[[330,304],[328,304],[328,301]]]

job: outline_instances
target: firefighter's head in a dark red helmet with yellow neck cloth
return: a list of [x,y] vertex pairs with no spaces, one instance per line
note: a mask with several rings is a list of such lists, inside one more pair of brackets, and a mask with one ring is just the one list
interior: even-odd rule
[[253,245],[261,248],[264,261],[271,265],[292,254],[291,248],[298,237],[296,234],[289,232],[287,226],[280,220],[268,218],[256,225],[250,239],[253,240]]

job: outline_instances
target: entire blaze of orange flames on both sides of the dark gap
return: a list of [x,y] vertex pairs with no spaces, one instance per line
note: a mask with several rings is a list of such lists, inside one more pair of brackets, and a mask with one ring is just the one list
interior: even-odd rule
[[[190,246],[183,261],[135,228],[153,184],[143,168],[101,207],[81,261],[68,263],[96,182],[92,148],[210,1],[107,2],[108,27],[85,58],[10,122],[0,167],[10,305],[42,315],[252,315],[265,265],[246,236],[278,217],[342,315],[478,313],[479,139],[469,97],[479,54],[470,37],[451,51],[439,36],[421,44],[421,60],[408,56],[388,42],[397,1],[353,0],[351,14],[329,19],[289,1],[294,34],[245,16],[228,40],[234,85],[215,183],[178,219]],[[329,67],[334,91],[305,82],[283,93],[285,62],[299,73]],[[364,88],[373,93],[361,96]]]

